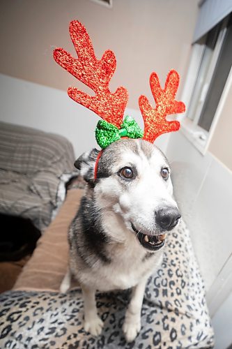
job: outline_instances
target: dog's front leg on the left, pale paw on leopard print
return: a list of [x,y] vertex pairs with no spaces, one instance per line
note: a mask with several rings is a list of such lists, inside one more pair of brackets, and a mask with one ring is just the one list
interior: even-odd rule
[[82,295],[84,299],[84,330],[93,336],[98,336],[102,332],[103,322],[98,316],[95,290],[82,285]]

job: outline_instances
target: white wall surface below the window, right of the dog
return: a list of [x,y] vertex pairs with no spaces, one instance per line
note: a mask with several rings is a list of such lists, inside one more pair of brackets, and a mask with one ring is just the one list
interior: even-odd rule
[[[217,348],[232,343],[232,332],[218,326],[222,304],[232,290],[232,172],[208,151],[205,156],[183,133],[169,139],[167,157],[173,168],[173,184],[181,214],[190,229],[196,258],[206,285]],[[232,329],[232,303],[223,306]],[[221,314],[221,315],[220,315]],[[215,321],[214,321],[215,319]]]

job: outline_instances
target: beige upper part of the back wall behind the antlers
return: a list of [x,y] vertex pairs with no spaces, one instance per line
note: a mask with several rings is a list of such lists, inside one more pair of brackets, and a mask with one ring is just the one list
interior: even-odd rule
[[125,86],[128,106],[137,109],[141,94],[153,101],[153,70],[162,82],[171,68],[184,78],[198,1],[114,0],[107,8],[90,0],[1,0],[0,73],[63,91],[70,85],[85,89],[52,56],[55,47],[63,47],[77,57],[68,26],[79,20],[98,59],[108,49],[116,54],[110,89]]

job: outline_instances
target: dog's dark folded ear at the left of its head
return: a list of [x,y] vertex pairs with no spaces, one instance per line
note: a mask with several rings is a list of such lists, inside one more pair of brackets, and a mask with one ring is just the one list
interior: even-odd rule
[[95,162],[98,158],[99,152],[100,151],[98,149],[87,151],[86,153],[79,156],[79,158],[77,158],[74,163],[75,168],[77,168],[77,170],[80,170],[80,174],[84,178],[84,180],[91,184],[93,184],[94,182]]

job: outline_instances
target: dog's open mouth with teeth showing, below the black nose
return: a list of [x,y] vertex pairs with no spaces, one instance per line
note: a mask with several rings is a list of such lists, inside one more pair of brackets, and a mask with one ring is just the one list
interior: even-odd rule
[[136,232],[137,239],[139,240],[140,244],[147,248],[150,251],[157,251],[164,246],[165,239],[167,237],[167,234],[160,234],[160,235],[146,235],[142,232],[139,232],[134,225],[132,224],[132,229],[134,232]]

